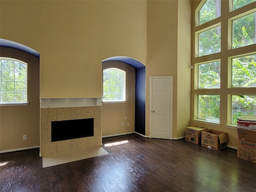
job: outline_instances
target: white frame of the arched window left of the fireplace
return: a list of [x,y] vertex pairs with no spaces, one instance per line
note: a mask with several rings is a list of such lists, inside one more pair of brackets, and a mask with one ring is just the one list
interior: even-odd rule
[[[26,102],[1,102],[0,101],[0,106],[28,106],[28,104],[29,104],[29,102],[28,102],[28,64],[24,61],[14,59],[14,58],[8,58],[8,57],[0,57],[0,60],[11,60],[14,62],[19,62],[19,63],[25,64],[26,65],[26,77],[27,77]],[[1,65],[1,69],[2,69],[2,65]],[[1,72],[2,72],[2,70],[1,70]],[[15,80],[13,82],[15,83]],[[2,78],[1,78],[1,86],[2,86]],[[0,92],[0,98],[2,98],[2,92]]]

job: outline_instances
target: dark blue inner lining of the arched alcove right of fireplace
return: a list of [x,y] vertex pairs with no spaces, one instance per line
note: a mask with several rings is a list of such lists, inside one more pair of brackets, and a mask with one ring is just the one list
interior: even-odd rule
[[145,135],[145,108],[146,108],[146,66],[142,62],[125,56],[115,56],[102,60],[124,62],[135,69],[135,127],[137,133]]

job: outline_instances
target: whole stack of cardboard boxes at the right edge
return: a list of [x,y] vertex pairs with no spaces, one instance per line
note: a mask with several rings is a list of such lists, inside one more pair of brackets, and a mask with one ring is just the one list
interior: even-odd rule
[[256,163],[256,116],[246,115],[237,120],[237,157]]

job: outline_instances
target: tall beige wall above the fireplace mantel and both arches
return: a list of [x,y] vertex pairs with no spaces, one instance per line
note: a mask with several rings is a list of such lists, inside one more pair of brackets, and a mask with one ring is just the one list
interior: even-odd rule
[[103,59],[146,62],[146,1],[1,1],[0,34],[40,52],[40,97],[100,97]]

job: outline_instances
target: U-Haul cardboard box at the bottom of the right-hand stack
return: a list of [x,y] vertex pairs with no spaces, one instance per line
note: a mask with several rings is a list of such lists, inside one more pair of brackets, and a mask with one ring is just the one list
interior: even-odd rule
[[237,157],[256,163],[256,144],[238,140]]

